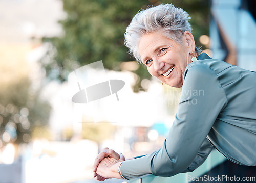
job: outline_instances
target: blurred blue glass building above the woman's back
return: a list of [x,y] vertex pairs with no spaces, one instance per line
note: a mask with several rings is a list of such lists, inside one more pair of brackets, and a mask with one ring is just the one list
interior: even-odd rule
[[256,71],[256,1],[212,0],[213,58]]

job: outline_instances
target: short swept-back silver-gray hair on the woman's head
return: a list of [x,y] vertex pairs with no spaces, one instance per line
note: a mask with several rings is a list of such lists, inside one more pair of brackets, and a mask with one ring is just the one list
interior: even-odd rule
[[[188,20],[190,16],[181,8],[172,4],[161,4],[146,10],[139,11],[126,28],[124,44],[129,48],[129,53],[141,62],[139,54],[139,41],[144,34],[160,31],[163,36],[183,44],[182,35],[185,31],[191,33]],[[200,50],[196,47],[199,54]]]

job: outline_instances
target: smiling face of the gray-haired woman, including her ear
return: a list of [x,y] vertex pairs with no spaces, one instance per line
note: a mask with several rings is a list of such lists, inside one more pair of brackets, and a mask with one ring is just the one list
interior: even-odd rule
[[164,37],[160,32],[148,33],[139,42],[139,53],[148,72],[161,82],[172,87],[183,85],[183,74],[195,51],[193,35],[182,35],[183,45]]

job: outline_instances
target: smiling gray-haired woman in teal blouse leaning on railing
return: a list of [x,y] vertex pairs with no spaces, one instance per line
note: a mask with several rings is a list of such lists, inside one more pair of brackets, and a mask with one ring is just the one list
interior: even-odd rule
[[232,162],[256,166],[256,73],[199,55],[189,18],[161,4],[140,11],[127,27],[125,43],[136,60],[163,83],[182,87],[181,98],[161,149],[124,161],[105,148],[95,160],[97,180],[193,171],[213,148]]

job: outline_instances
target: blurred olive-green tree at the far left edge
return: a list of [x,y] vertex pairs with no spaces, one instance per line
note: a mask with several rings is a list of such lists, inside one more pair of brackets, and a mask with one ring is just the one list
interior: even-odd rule
[[30,142],[32,130],[48,124],[51,109],[38,92],[32,92],[28,75],[7,77],[0,77],[0,148]]

